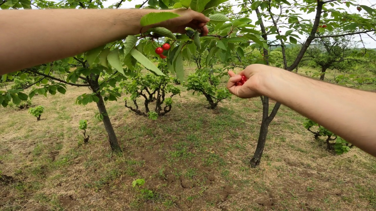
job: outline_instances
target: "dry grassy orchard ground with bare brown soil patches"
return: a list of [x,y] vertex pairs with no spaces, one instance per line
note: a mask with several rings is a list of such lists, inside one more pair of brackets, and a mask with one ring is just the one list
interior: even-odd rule
[[[375,158],[358,148],[333,155],[303,127],[303,116],[281,106],[261,164],[250,168],[260,99],[232,97],[208,110],[204,96],[181,88],[171,112],[156,121],[130,113],[121,100],[106,103],[121,155],[111,152],[105,128],[94,118],[96,105],[74,104],[90,92],[86,87],[35,96],[33,106],[45,107],[38,122],[27,110],[1,108],[0,209],[376,209]],[[80,119],[88,120],[87,144]],[[145,179],[140,188],[154,195],[132,188],[135,179]]]

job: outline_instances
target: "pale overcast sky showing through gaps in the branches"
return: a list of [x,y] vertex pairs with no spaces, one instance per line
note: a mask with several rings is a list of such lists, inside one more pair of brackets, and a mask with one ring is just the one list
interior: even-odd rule
[[[106,8],[106,7],[108,7],[108,6],[110,6],[110,5],[114,4],[114,3],[117,3],[117,2],[119,2],[119,0],[107,0],[106,2],[103,2],[103,6],[105,6],[105,8]],[[131,2],[128,2],[127,0],[124,0],[124,3],[122,4],[121,8],[135,8],[135,5],[139,5],[139,4],[143,3],[143,2],[144,2],[144,0],[132,0]],[[237,3],[236,0],[229,0],[228,2],[231,5],[237,5],[237,4],[239,4],[239,3]],[[240,2],[240,3],[242,3],[242,2]],[[373,5],[373,4],[376,3],[376,0],[358,0],[357,3],[359,5],[371,6],[371,5]],[[340,7],[346,9],[346,11],[349,12],[349,13],[354,13],[354,12],[358,13],[358,11],[356,10],[356,7],[354,7],[354,6],[350,6],[350,8],[347,8],[345,6],[345,4],[343,4],[343,5],[340,5]],[[236,12],[240,11],[240,8],[238,8],[237,6],[233,6],[232,10],[236,13]],[[298,12],[298,11],[296,11],[296,12]],[[365,12],[365,11],[362,10],[360,13],[363,13],[363,12]],[[278,12],[276,12],[276,13],[278,13]],[[313,20],[314,17],[315,17],[315,12],[311,12],[310,14],[304,14],[304,15],[302,15],[302,17],[304,17],[305,19]],[[249,18],[252,21],[257,20],[255,13],[251,14]],[[280,30],[282,31],[282,33],[284,33],[288,29],[281,28]],[[372,33],[368,33],[368,34],[372,35]],[[299,35],[299,34],[297,34],[297,35]],[[301,36],[301,35],[299,35],[299,36]],[[270,37],[268,39],[269,40],[274,40],[273,37]],[[376,48],[376,41],[374,41],[373,39],[371,39],[369,36],[362,35],[362,39],[363,39],[364,44],[365,44],[365,46],[367,48]],[[359,35],[355,35],[354,36],[354,40],[360,41]],[[360,45],[359,45],[359,47],[360,47]]]

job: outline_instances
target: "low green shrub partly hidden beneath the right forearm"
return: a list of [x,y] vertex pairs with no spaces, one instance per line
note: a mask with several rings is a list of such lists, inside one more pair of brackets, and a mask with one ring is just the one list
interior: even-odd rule
[[[321,136],[326,136],[325,142],[327,150],[335,152],[337,155],[349,152],[349,150],[354,146],[310,119],[307,119],[307,121],[304,122],[303,125],[309,132],[315,135],[314,138],[316,140],[320,140]],[[312,131],[312,128],[317,128],[317,131]]]

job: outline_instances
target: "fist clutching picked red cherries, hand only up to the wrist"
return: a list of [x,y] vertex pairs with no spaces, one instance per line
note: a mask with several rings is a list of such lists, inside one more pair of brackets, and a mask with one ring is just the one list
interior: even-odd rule
[[[227,89],[230,93],[240,98],[253,98],[263,95],[262,84],[265,84],[265,78],[270,75],[272,67],[267,65],[253,64],[249,65],[239,74],[229,71],[229,82]],[[245,75],[248,80],[242,86],[235,86],[235,83],[241,80],[241,76]]]

